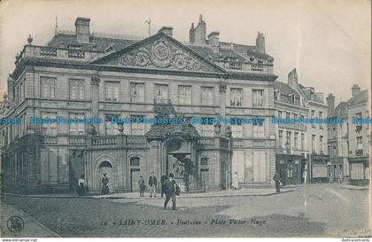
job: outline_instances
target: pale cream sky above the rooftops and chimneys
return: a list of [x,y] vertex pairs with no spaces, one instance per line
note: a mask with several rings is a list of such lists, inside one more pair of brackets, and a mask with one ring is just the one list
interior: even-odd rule
[[203,14],[206,31],[220,32],[223,42],[255,44],[266,38],[278,80],[296,67],[304,86],[333,93],[336,101],[351,98],[357,83],[370,90],[371,8],[368,0],[4,0],[0,2],[0,92],[14,70],[17,52],[27,43],[43,45],[58,29],[74,30],[76,17],[90,18],[90,31],[148,35],[174,27],[174,38],[189,40],[191,22]]

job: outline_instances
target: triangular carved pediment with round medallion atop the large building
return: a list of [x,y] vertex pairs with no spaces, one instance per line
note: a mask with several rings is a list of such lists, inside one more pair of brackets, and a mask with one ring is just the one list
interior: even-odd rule
[[149,69],[221,72],[219,66],[162,33],[97,59],[94,63]]

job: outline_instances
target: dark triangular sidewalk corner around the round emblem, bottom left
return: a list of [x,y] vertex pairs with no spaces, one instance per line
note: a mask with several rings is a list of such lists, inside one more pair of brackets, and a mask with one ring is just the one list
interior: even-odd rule
[[[11,231],[8,229],[8,220],[18,216],[24,222],[23,229]],[[9,222],[11,224],[11,222]],[[57,233],[49,230],[33,217],[26,215],[16,208],[1,203],[1,238],[59,238]]]

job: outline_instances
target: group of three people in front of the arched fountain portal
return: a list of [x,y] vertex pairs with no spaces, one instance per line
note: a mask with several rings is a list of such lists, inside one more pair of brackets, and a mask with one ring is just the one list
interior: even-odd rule
[[[149,177],[149,188],[150,188],[150,199],[156,198],[156,188],[158,186],[158,179],[155,176],[154,172],[151,172],[151,176]],[[138,186],[140,191],[140,197],[144,197],[144,191],[146,189],[146,185],[144,183],[143,176],[140,176],[138,180]],[[166,200],[164,201],[164,209],[167,210],[167,204],[169,200],[172,199],[172,209],[177,210],[175,207],[175,200],[176,195],[180,195],[180,187],[177,183],[175,183],[174,175],[171,173],[167,176],[166,173],[160,177],[160,192],[161,197],[166,195]]]

